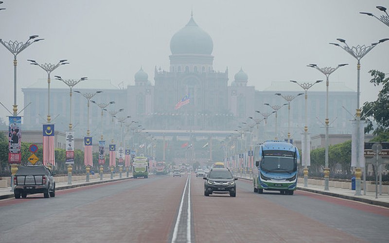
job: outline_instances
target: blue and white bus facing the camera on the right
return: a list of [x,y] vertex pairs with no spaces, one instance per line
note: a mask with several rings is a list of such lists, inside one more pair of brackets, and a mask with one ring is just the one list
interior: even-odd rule
[[293,195],[297,186],[299,149],[283,141],[266,141],[255,148],[254,192],[280,191]]

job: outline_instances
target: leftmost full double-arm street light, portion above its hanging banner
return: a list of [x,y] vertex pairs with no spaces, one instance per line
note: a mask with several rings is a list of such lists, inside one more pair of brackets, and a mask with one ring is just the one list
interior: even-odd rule
[[22,52],[24,49],[29,47],[31,44],[43,40],[43,39],[36,39],[39,35],[31,35],[28,40],[23,43],[23,42],[18,42],[18,41],[3,41],[0,39],[0,43],[7,48],[8,51],[10,51],[14,55],[14,105],[13,105],[13,115],[17,116],[18,115],[18,105],[16,104],[16,67],[18,65],[18,60],[16,59],[17,55]]

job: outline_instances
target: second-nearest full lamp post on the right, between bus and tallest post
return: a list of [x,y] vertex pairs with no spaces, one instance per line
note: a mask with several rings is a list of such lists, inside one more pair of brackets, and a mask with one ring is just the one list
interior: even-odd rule
[[324,68],[319,68],[318,65],[316,64],[309,64],[308,67],[318,69],[319,72],[325,75],[326,77],[326,105],[325,105],[325,160],[324,160],[324,191],[328,191],[328,183],[329,183],[329,176],[330,176],[330,168],[328,168],[328,128],[329,128],[329,123],[330,120],[328,118],[328,87],[329,87],[329,76],[331,73],[335,72],[336,69],[340,67],[344,67],[348,64],[339,64],[337,65],[336,68],[331,68],[331,67],[324,67]]

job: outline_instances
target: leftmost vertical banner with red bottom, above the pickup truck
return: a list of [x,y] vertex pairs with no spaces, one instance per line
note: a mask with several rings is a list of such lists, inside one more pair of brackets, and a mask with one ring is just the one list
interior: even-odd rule
[[21,117],[9,117],[8,126],[8,162],[20,164],[21,162]]

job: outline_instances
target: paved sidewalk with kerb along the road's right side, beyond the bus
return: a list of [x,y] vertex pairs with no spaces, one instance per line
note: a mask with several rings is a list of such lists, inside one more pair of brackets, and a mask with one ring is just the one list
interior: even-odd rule
[[[241,176],[238,176],[242,179],[245,180],[252,180],[248,176],[244,176],[242,174]],[[389,194],[388,193],[382,193],[380,195],[378,193],[378,198],[375,198],[375,191],[367,191],[366,195],[363,195],[363,190],[361,191],[360,196],[355,195],[355,190],[350,190],[350,189],[345,189],[345,188],[338,188],[334,186],[329,186],[328,191],[324,191],[324,186],[321,185],[314,185],[313,183],[309,183],[314,181],[313,179],[308,180],[308,185],[307,187],[304,187],[303,183],[303,178],[299,178],[298,183],[297,183],[297,190],[301,191],[309,191],[309,192],[314,192],[318,194],[323,194],[323,195],[328,195],[328,196],[333,196],[333,197],[339,197],[339,198],[344,198],[348,200],[353,200],[353,201],[358,201],[362,203],[367,203],[371,205],[377,205],[377,206],[382,206],[389,208]],[[318,184],[318,183],[315,183]]]

